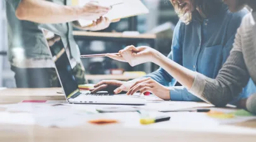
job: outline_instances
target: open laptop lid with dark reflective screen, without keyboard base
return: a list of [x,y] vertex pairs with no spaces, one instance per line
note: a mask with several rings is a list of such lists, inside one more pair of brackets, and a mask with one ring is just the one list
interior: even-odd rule
[[69,58],[67,57],[61,36],[47,31],[45,38],[52,55],[52,59],[55,63],[57,75],[59,76],[62,88],[66,94],[66,99],[79,96],[81,93],[79,92],[78,84],[73,75],[72,67],[69,62]]

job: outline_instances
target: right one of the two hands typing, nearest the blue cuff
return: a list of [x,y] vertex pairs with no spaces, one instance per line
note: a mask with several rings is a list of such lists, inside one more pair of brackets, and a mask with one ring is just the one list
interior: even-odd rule
[[144,92],[151,92],[155,96],[164,100],[170,100],[170,89],[165,87],[151,78],[146,78],[135,82],[131,85],[127,95],[133,95],[139,91],[141,94]]

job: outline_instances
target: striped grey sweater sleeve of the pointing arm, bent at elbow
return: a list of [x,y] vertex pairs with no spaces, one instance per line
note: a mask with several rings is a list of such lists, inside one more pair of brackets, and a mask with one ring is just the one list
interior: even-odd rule
[[240,94],[249,77],[243,53],[233,50],[216,79],[197,74],[190,92],[215,106],[226,106]]

